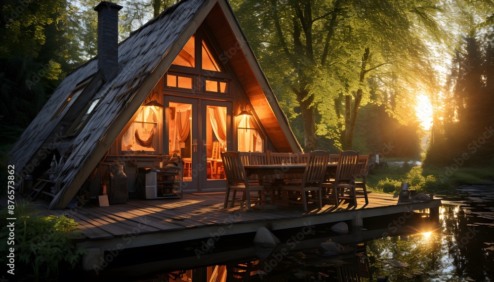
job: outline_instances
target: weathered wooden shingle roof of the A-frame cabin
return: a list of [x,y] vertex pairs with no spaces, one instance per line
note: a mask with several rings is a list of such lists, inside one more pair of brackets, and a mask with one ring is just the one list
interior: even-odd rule
[[[43,152],[44,147],[58,148],[60,153],[65,155],[66,161],[54,179],[56,188],[60,192],[51,202],[50,208],[65,208],[72,200],[99,161],[104,158],[127,122],[132,120],[149,92],[165,74],[187,40],[196,32],[206,17],[209,18],[208,21],[211,21],[210,14],[213,8],[216,12],[220,12],[218,11],[220,9],[227,15],[226,18],[235,19],[226,0],[182,0],[167,8],[161,15],[121,42],[119,45],[120,72],[112,81],[100,83],[102,86],[96,87],[93,92],[81,93],[81,95],[92,95],[92,100],[96,98],[100,100],[82,130],[77,136],[70,138],[63,137],[63,132],[55,131],[59,128],[63,117],[75,110],[72,109],[75,104],[68,105],[58,117],[54,117],[54,113],[67,101],[78,84],[91,77],[92,80],[98,79],[97,57],[76,69],[62,81],[36,119],[14,145],[10,160],[18,169],[17,173],[25,176],[32,171],[30,169],[30,165],[34,165],[30,163],[32,157]],[[222,20],[225,21],[225,16]],[[235,25],[231,35],[238,36],[240,30],[241,36],[244,37],[242,43],[244,46],[240,52],[244,56],[243,59],[246,60],[244,53],[248,53],[249,64],[252,60],[255,61],[254,66],[251,66],[254,71],[243,70],[243,72],[250,81],[252,79],[260,81],[258,89],[246,91],[247,95],[252,94],[258,97],[264,92],[265,102],[259,103],[259,107],[271,109],[270,111],[264,110],[268,115],[267,118],[279,120],[278,125],[275,124],[274,127],[270,125],[269,129],[273,131],[272,128],[278,128],[273,131],[273,137],[270,136],[274,146],[278,144],[280,151],[300,151],[300,145],[288,126],[288,120],[269,88],[236,19]],[[256,75],[259,72],[262,74],[260,78]],[[255,106],[254,110],[256,110]],[[263,117],[260,115],[259,117],[262,123]],[[267,129],[268,135],[270,131]],[[20,168],[23,170],[20,171]]]

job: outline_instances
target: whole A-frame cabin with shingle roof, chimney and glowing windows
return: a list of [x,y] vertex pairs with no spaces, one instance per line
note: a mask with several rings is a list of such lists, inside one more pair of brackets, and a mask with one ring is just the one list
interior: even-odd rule
[[185,190],[207,191],[226,186],[209,169],[218,152],[301,151],[227,0],[182,0],[118,44],[120,8],[95,8],[98,56],[15,144],[18,183],[46,174],[54,155],[49,207],[65,208],[81,188],[99,194],[103,161],[125,162],[131,190],[138,167],[177,154]]

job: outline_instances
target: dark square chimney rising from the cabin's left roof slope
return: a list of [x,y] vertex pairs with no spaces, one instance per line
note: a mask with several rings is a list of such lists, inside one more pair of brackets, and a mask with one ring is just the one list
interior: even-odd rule
[[98,12],[98,68],[105,81],[113,80],[119,69],[119,11],[123,7],[101,1],[94,10]]

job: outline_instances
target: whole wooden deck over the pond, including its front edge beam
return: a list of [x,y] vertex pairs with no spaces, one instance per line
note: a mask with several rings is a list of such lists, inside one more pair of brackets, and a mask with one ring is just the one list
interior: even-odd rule
[[[184,194],[182,199],[140,200],[132,199],[126,204],[99,207],[86,204],[81,208],[48,210],[41,202],[36,203],[44,215],[65,214],[79,223],[82,234],[78,245],[84,248],[115,248],[126,238],[126,247],[181,242],[211,237],[218,230],[221,235],[255,232],[260,227],[283,230],[304,225],[348,222],[350,226],[370,228],[366,219],[430,208],[431,212],[441,205],[440,200],[424,202],[400,202],[386,194],[369,194],[369,204],[358,199],[357,208],[340,204],[309,205],[309,212],[301,206],[280,205],[278,209],[240,212],[239,206],[223,208],[224,193]],[[312,210],[311,210],[312,209]],[[221,229],[220,229],[221,228]]]

